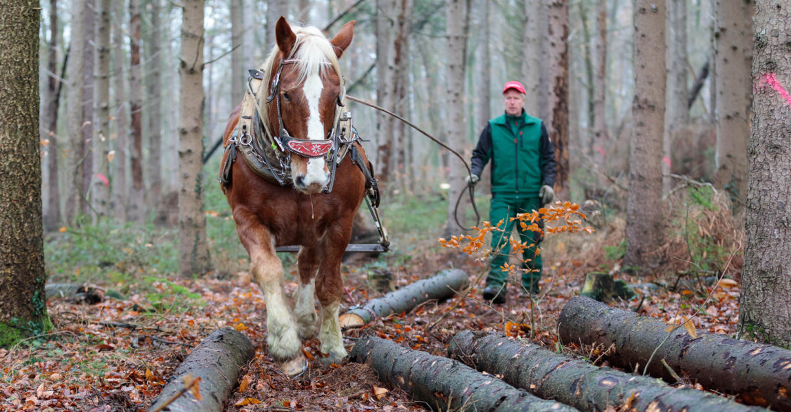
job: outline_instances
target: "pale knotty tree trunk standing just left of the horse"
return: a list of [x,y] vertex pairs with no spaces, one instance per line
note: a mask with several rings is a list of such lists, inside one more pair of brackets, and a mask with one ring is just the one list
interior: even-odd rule
[[203,182],[203,0],[184,2],[179,62],[179,273],[211,268],[206,243]]

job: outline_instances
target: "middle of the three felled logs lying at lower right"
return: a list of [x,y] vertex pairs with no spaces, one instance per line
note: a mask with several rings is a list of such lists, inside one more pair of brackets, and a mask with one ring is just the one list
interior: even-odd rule
[[543,399],[579,410],[662,410],[736,412],[763,410],[692,388],[671,388],[650,376],[599,368],[582,359],[504,335],[461,331],[448,347],[451,358]]

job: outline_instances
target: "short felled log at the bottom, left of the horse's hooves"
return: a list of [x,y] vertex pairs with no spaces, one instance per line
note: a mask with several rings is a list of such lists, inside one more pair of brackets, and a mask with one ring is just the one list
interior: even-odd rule
[[[253,357],[255,348],[250,339],[236,329],[221,328],[212,332],[176,368],[170,382],[151,403],[149,411],[170,402],[164,409],[169,412],[221,412],[233,388],[236,388],[244,366]],[[188,375],[200,378],[201,399],[187,391],[172,400],[174,395],[183,391],[184,376]]]

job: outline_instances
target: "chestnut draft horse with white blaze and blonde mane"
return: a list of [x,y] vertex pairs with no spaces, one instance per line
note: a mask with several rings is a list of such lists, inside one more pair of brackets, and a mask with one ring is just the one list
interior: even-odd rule
[[[327,39],[317,28],[292,28],[280,17],[275,28],[277,46],[261,69],[251,70],[251,81],[259,79],[263,85],[257,93],[248,87],[248,96],[255,96],[252,127],[240,126],[245,119],[251,123],[249,114],[245,117],[244,102],[233,110],[225,127],[222,164],[233,178],[221,176],[223,192],[250,255],[252,278],[266,297],[269,353],[289,376],[307,367],[301,342],[316,334],[318,324],[321,360],[331,363],[346,357],[338,323],[343,294],[340,264],[351,238],[354,212],[365,196],[366,178],[352,162],[355,158],[339,157],[343,160],[335,167],[332,155],[339,152],[333,133],[337,133],[339,112],[346,103],[338,58],[353,35],[354,21]],[[275,163],[269,170],[277,170],[276,164],[282,165],[273,173],[275,178],[262,178],[249,159],[233,161],[236,152],[229,146],[240,151],[244,144],[252,147],[246,133],[255,130],[264,135],[255,156],[259,166]],[[362,159],[368,165],[358,140],[346,144],[358,152],[358,163]],[[229,153],[233,159],[226,163]],[[293,307],[287,304],[282,263],[275,254],[280,245],[301,246]],[[314,293],[320,303],[320,320]]]

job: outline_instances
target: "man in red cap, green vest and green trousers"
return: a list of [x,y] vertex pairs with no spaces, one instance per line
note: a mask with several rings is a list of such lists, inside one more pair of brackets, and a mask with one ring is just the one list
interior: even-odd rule
[[[491,159],[490,222],[503,221],[503,232],[492,232],[492,254],[489,275],[483,289],[483,299],[494,304],[505,303],[505,287],[511,250],[509,238],[517,213],[538,210],[554,198],[554,145],[547,129],[539,118],[524,112],[524,87],[518,81],[509,81],[502,89],[505,114],[486,123],[478,146],[472,152],[471,172],[467,183],[480,180],[481,171]],[[541,225],[543,227],[543,225]],[[517,224],[521,242],[535,246],[525,249],[522,264],[522,287],[531,294],[538,294],[541,279],[541,256],[536,255],[543,236],[532,230],[523,230]]]

